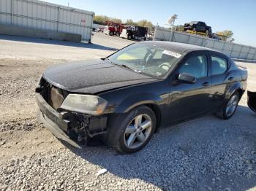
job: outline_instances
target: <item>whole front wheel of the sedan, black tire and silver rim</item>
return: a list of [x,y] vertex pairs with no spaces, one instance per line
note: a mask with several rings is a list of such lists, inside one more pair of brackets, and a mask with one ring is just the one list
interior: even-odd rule
[[[119,118],[119,119],[118,119]],[[148,106],[138,106],[112,120],[108,139],[119,152],[138,152],[148,144],[156,130],[156,116]]]

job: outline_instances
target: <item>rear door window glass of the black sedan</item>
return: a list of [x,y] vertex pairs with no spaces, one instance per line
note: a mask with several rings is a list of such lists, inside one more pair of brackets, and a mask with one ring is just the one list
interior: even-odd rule
[[225,58],[211,56],[211,75],[223,74],[227,70]]

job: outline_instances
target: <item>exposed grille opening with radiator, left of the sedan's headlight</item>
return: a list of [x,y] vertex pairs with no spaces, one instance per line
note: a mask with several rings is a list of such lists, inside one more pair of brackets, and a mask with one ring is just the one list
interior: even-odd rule
[[64,98],[69,94],[67,91],[51,85],[49,82],[45,81],[45,79],[41,81],[41,87],[42,97],[45,98],[45,101],[55,110],[61,106]]

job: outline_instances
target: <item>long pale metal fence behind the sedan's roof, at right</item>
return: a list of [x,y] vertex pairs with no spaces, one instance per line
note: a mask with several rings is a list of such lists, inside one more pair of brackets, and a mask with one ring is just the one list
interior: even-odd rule
[[209,39],[205,36],[195,34],[186,34],[177,31],[172,32],[167,28],[157,27],[154,32],[154,40],[195,44],[224,52],[231,58],[256,61],[256,47],[233,42],[217,41],[216,39]]

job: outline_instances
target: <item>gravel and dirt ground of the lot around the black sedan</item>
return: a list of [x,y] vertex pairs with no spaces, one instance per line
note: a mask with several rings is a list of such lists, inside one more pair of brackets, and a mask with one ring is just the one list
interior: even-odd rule
[[[102,58],[131,43],[0,36],[0,190],[256,190],[256,114],[241,99],[230,120],[208,115],[154,135],[134,155],[66,147],[37,122],[34,87],[48,66]],[[248,90],[256,91],[256,63]],[[97,172],[105,168],[105,174]]]

